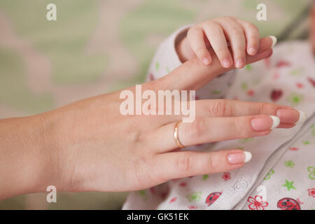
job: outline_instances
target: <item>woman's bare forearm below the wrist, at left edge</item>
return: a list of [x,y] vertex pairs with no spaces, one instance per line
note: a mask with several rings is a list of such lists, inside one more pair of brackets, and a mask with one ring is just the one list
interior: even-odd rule
[[48,133],[41,116],[0,120],[0,200],[59,185]]

